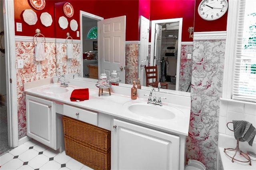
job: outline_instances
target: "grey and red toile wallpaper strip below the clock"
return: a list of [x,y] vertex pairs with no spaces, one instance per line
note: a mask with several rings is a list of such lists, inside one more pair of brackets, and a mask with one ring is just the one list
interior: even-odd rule
[[226,41],[198,40],[193,43],[191,112],[186,160],[199,160],[207,170],[215,170]]

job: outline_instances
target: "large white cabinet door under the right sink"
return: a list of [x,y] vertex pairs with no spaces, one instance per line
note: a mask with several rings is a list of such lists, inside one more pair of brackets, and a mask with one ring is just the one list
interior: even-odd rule
[[117,119],[113,123],[111,169],[179,169],[179,136]]

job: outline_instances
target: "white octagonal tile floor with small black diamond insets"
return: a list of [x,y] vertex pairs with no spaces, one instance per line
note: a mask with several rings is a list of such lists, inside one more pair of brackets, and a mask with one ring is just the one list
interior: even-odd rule
[[30,140],[0,156],[0,170],[92,170],[65,154]]

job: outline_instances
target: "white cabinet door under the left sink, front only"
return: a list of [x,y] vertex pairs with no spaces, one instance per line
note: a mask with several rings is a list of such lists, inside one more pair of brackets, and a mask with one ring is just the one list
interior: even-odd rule
[[53,102],[26,95],[27,135],[54,148]]

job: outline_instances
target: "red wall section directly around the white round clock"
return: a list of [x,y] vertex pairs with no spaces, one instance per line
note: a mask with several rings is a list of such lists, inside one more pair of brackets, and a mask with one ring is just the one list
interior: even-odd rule
[[226,31],[228,12],[226,12],[226,14],[224,14],[224,16],[222,16],[218,20],[214,20],[214,21],[203,20],[197,12],[200,2],[201,0],[196,0],[194,32]]

